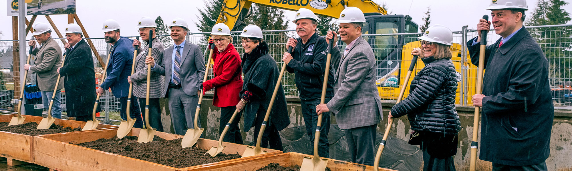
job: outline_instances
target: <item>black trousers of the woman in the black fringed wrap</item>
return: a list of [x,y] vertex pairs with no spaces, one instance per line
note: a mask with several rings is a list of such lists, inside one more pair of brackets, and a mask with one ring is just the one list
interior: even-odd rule
[[[266,115],[266,109],[260,108],[256,114],[256,120],[255,120],[256,125],[254,127],[255,145],[256,141],[258,140],[258,133],[260,132],[260,127],[262,126],[262,122],[264,121],[264,115]],[[284,151],[284,148],[282,147],[282,140],[280,140],[280,133],[278,132],[278,129],[274,127],[274,124],[272,124],[271,120],[272,120],[272,113],[270,113],[270,118],[268,119],[268,125],[264,129],[260,146],[262,148],[270,148],[270,149]]]

